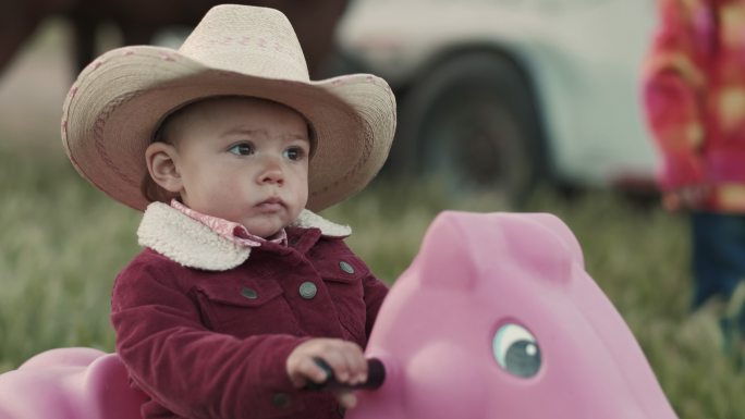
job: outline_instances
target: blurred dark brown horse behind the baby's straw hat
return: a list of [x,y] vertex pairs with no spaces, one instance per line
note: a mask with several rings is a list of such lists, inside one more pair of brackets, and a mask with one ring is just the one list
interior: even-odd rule
[[[318,75],[333,49],[335,25],[347,0],[231,1],[282,11],[300,38],[310,74]],[[62,15],[74,29],[78,70],[96,54],[96,34],[103,23],[118,26],[124,45],[148,44],[169,26],[194,26],[209,8],[208,0],[5,0],[0,10],[0,72],[46,19]]]

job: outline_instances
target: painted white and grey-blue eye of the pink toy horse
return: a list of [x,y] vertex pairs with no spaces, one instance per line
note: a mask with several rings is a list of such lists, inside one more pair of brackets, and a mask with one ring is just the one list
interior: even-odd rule
[[540,370],[540,347],[525,328],[505,323],[492,341],[494,359],[500,367],[513,375],[529,378]]

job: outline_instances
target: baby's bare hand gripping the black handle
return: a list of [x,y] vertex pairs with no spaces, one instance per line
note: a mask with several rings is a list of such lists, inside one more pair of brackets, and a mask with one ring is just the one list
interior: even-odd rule
[[[288,377],[296,387],[303,387],[308,382],[321,383],[328,379],[316,358],[331,367],[339,383],[354,385],[367,380],[367,360],[357,344],[319,337],[300,344],[288,357]],[[357,402],[352,391],[339,391],[335,394],[345,408],[354,407]]]

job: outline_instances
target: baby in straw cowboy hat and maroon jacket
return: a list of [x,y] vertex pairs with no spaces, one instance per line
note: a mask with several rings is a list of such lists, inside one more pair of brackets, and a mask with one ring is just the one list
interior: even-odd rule
[[176,51],[125,47],[78,76],[62,136],[77,171],[143,210],[118,275],[117,352],[144,418],[338,418],[366,380],[387,287],[315,214],[362,189],[395,126],[373,75],[308,79],[278,11],[211,9]]

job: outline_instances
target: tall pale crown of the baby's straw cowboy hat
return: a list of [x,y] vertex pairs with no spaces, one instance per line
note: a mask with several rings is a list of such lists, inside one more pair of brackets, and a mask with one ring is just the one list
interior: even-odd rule
[[297,36],[286,16],[273,9],[215,7],[184,40],[179,52],[219,70],[309,81]]

